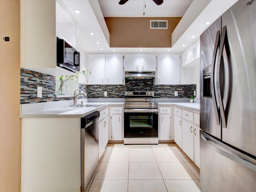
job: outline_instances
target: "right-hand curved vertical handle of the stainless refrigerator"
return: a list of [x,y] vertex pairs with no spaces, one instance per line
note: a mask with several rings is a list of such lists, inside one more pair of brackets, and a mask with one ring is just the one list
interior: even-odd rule
[[221,63],[222,63],[222,54],[223,54],[223,49],[224,49],[224,45],[227,48],[229,48],[228,46],[228,35],[227,35],[227,28],[226,26],[224,26],[222,28],[222,37],[221,37],[221,41],[220,41],[220,50],[219,50],[219,55],[218,55],[218,62],[217,62],[217,96],[218,96],[218,102],[219,102],[219,106],[220,106],[220,115],[222,118],[222,127],[223,128],[227,128],[227,116],[225,114],[225,109],[224,109],[224,105],[223,105],[223,98],[222,98],[222,82],[221,82]]

